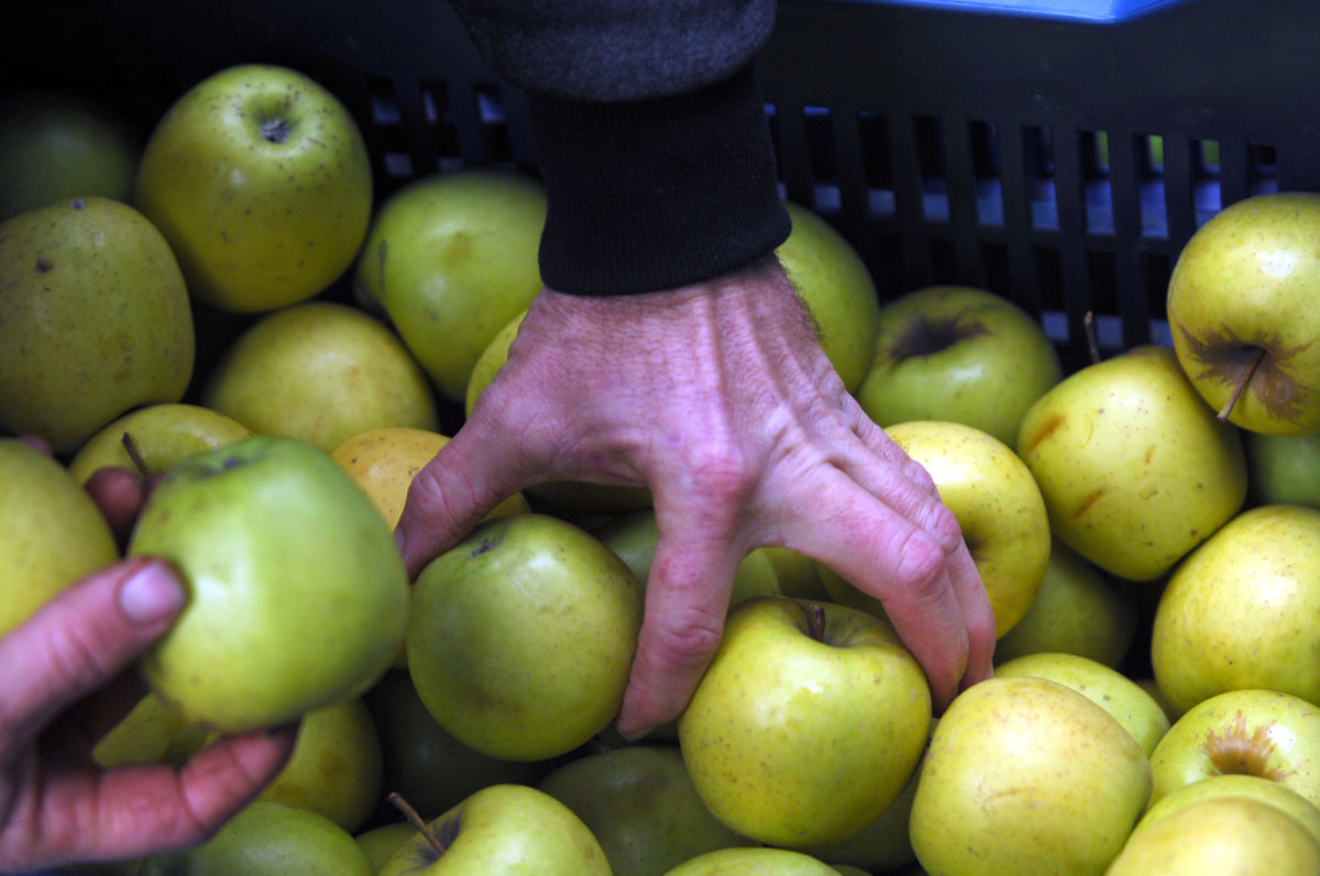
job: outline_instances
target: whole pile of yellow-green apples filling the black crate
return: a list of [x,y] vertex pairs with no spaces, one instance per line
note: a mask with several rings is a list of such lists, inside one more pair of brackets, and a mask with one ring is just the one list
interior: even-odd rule
[[[301,720],[211,840],[107,871],[1320,872],[1320,195],[1222,210],[1172,346],[1067,375],[993,292],[879,302],[788,204],[826,355],[958,518],[995,677],[935,715],[879,602],[759,548],[686,711],[624,740],[645,489],[529,487],[414,582],[392,537],[541,288],[536,179],[378,199],[348,111],[257,65],[141,145],[16,95],[0,158],[0,635],[161,555],[189,606],[98,761]],[[107,466],[160,482],[119,538]]]

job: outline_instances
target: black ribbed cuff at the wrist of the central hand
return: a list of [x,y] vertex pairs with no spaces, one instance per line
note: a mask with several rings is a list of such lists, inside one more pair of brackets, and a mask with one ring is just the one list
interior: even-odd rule
[[558,292],[675,289],[741,268],[789,232],[748,66],[634,103],[529,95],[549,202],[541,278]]

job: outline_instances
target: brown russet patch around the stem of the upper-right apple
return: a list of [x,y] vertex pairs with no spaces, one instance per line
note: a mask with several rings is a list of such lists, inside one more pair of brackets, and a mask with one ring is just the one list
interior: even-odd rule
[[1294,361],[1313,342],[1283,347],[1278,335],[1257,332],[1239,338],[1232,330],[1195,335],[1184,325],[1179,334],[1187,342],[1191,358],[1201,367],[1199,380],[1217,380],[1228,387],[1245,387],[1271,417],[1300,422],[1315,405],[1313,392],[1294,376],[1286,363]]

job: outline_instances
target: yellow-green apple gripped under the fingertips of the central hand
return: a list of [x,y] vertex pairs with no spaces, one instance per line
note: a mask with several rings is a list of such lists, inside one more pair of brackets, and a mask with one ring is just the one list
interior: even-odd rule
[[925,675],[888,621],[754,596],[730,608],[678,744],[715,818],[799,848],[846,839],[892,805],[929,727]]

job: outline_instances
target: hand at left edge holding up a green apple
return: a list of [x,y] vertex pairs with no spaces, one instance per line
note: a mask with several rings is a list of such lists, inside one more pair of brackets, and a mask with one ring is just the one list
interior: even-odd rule
[[[103,471],[87,489],[112,526],[128,525],[149,485]],[[94,741],[145,693],[124,670],[182,607],[170,569],[136,557],[87,575],[0,637],[0,871],[201,842],[288,760],[293,728],[226,739],[180,769],[96,766]]]

